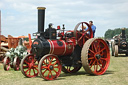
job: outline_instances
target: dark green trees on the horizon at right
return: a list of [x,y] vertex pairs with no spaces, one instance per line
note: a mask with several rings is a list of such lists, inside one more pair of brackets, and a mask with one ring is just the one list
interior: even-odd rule
[[[105,37],[105,39],[111,39],[111,38],[113,38],[113,36],[120,34],[121,31],[122,31],[122,28],[116,28],[116,29],[113,29],[113,30],[108,29],[105,32],[104,37]],[[125,29],[125,34],[128,37],[128,28]]]

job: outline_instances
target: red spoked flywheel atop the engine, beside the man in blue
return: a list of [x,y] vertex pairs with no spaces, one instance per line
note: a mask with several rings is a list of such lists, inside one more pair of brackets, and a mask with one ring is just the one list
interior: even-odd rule
[[82,47],[88,39],[93,38],[91,26],[87,22],[78,23],[74,29],[74,37],[77,44]]

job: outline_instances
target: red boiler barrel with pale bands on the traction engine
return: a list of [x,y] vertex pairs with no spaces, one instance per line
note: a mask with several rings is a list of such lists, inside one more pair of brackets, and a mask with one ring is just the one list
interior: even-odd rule
[[58,56],[71,55],[75,47],[74,44],[75,39],[67,39],[67,41],[64,40],[58,40],[58,41],[62,42],[63,45],[59,46],[57,40],[48,40],[50,44],[49,54],[55,54]]

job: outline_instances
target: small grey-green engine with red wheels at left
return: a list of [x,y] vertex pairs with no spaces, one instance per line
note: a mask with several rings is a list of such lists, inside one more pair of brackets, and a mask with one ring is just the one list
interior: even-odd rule
[[4,70],[8,71],[10,67],[14,68],[15,71],[19,70],[20,61],[27,54],[27,48],[22,45],[22,39],[20,39],[19,44],[16,48],[11,48],[5,53],[3,62]]

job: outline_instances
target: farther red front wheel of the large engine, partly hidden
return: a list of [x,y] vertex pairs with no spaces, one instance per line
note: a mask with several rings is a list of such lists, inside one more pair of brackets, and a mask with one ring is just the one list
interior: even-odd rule
[[35,60],[34,55],[28,55],[21,61],[21,71],[26,77],[38,76],[38,62]]

